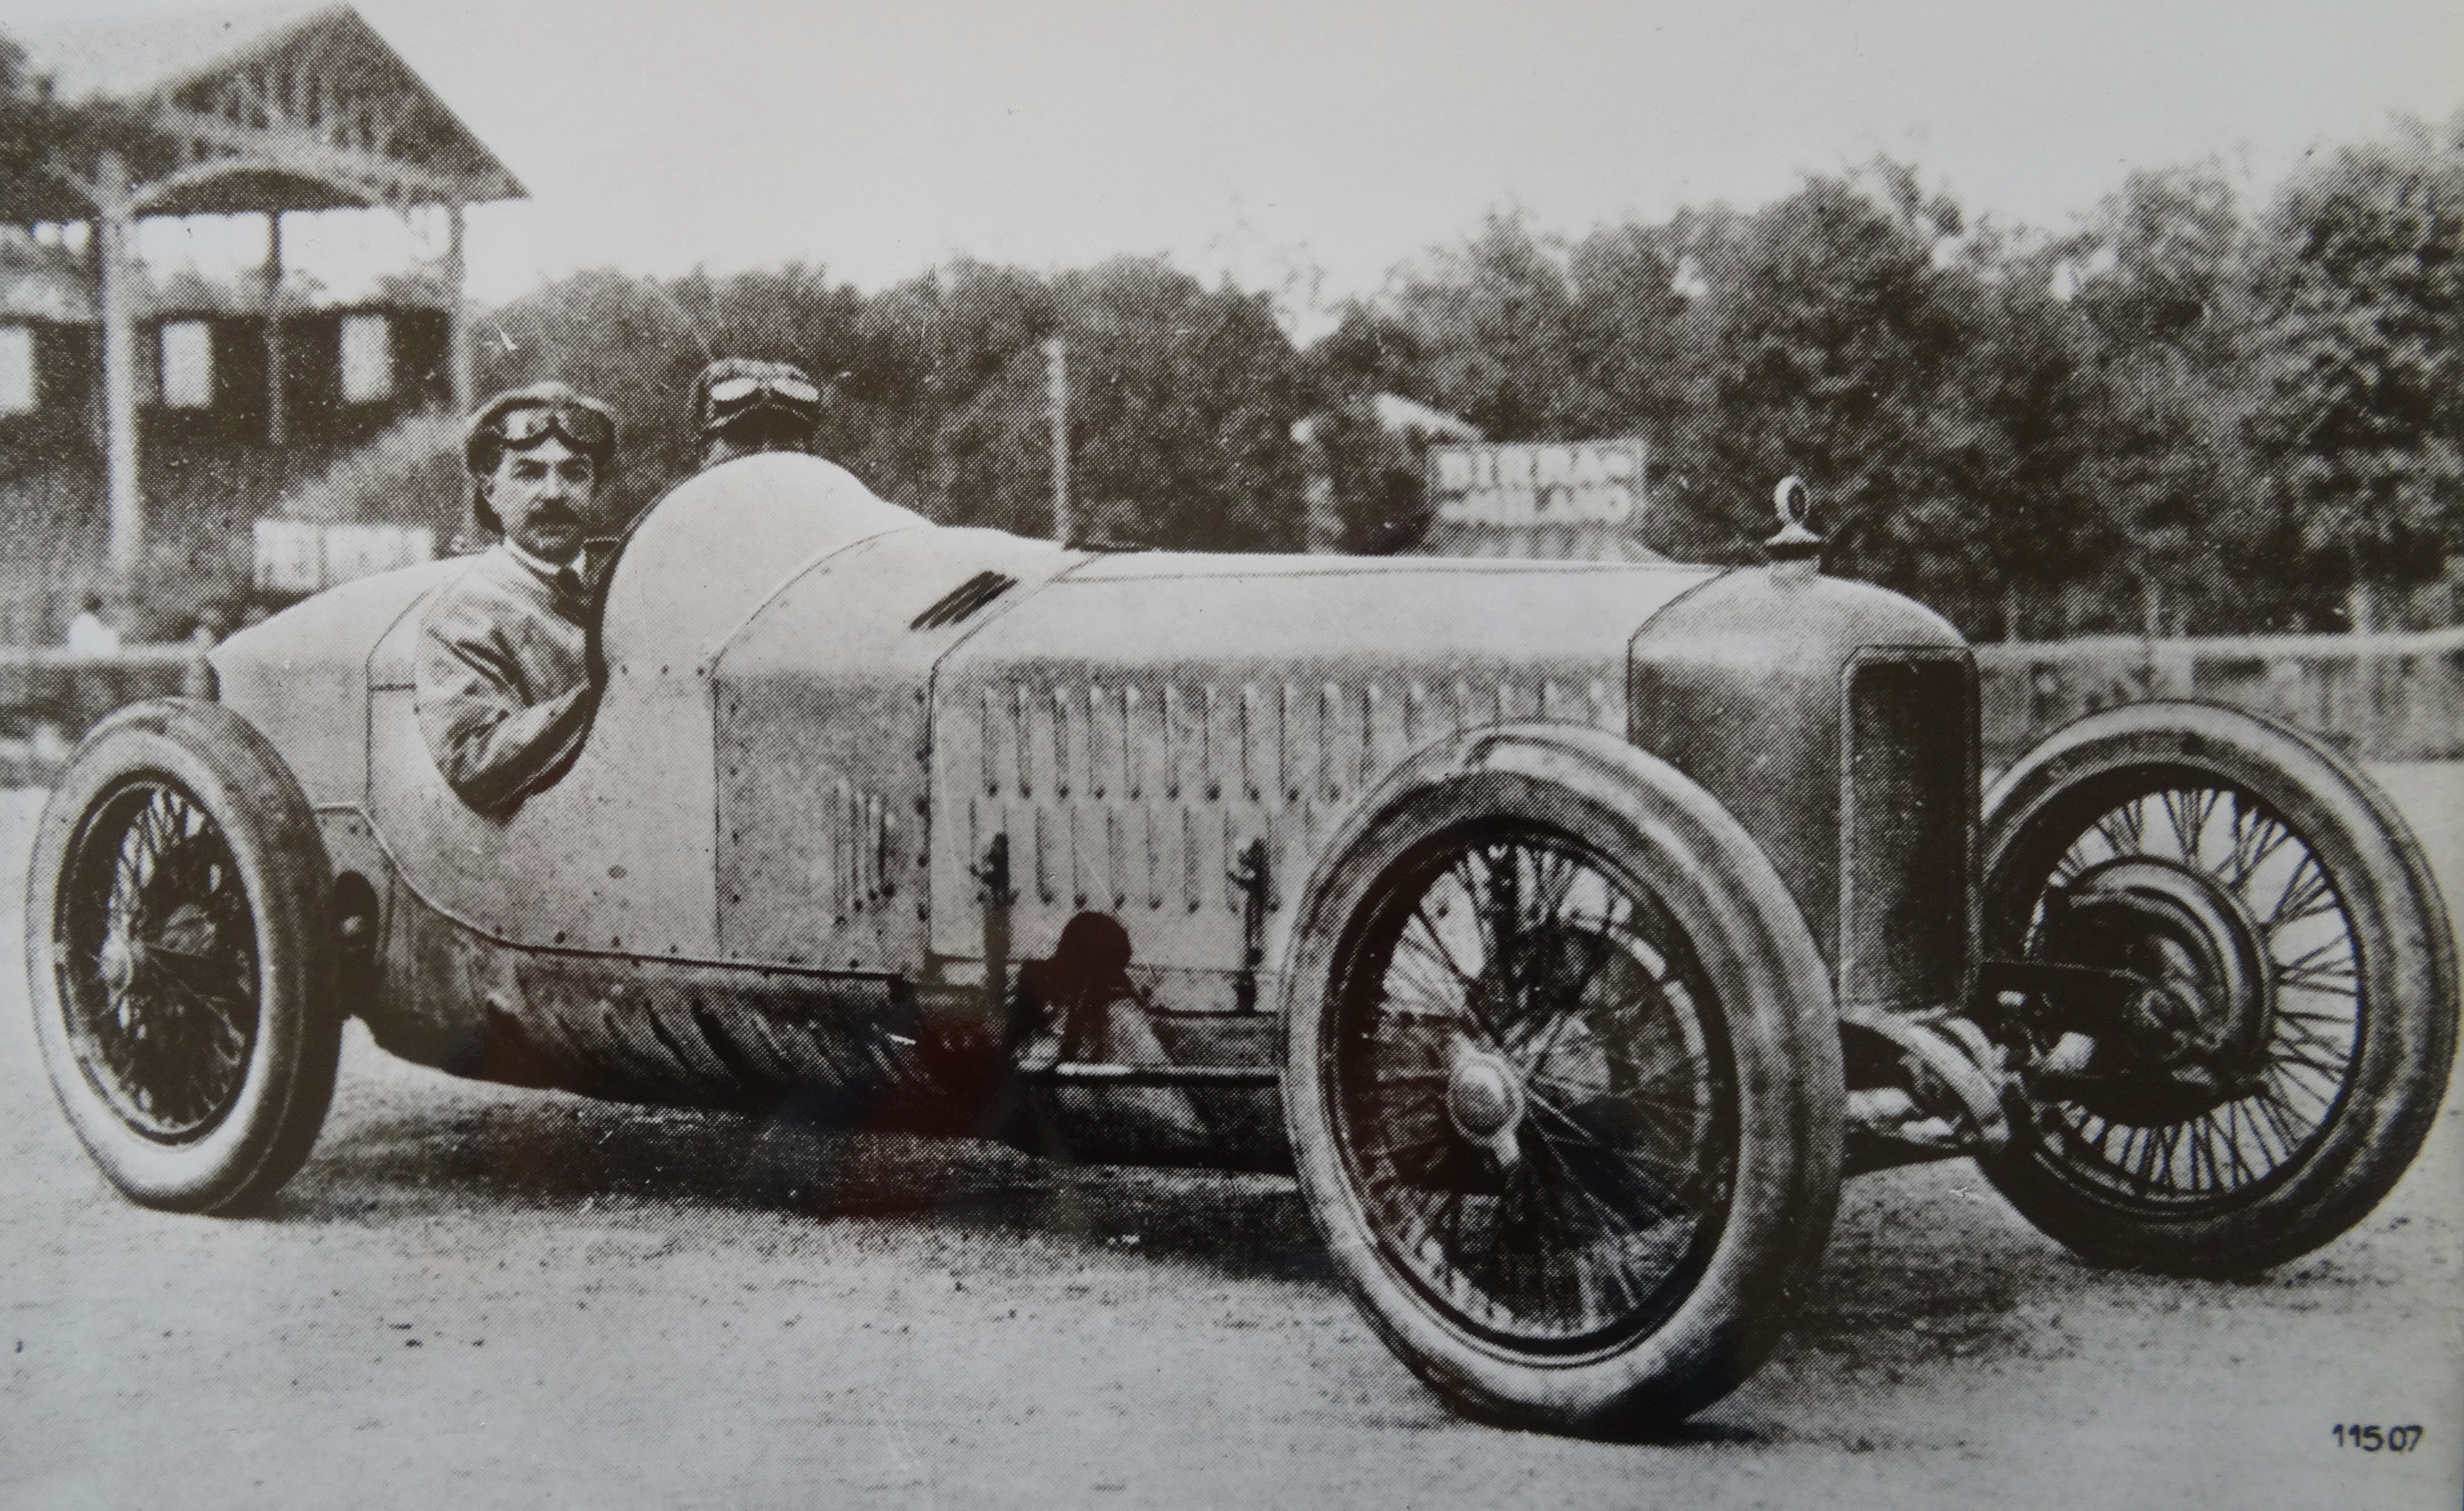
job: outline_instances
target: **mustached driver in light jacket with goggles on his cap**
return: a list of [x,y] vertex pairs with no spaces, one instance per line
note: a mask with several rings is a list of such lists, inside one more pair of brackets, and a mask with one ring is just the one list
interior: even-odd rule
[[562,382],[495,394],[463,429],[478,523],[503,540],[419,626],[419,732],[480,813],[554,781],[589,732],[589,587],[579,572],[616,414]]

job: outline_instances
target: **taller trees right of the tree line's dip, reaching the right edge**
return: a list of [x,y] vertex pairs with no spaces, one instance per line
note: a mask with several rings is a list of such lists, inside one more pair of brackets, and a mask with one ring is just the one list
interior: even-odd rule
[[[2464,545],[2459,141],[2346,148],[2257,219],[2144,170],[2065,239],[1890,160],[1572,246],[1501,214],[1311,360],[1493,439],[1646,436],[1695,557],[1752,560],[1799,471],[1841,569],[1971,633],[2368,621]],[[1407,513],[1353,449],[1355,515]]]

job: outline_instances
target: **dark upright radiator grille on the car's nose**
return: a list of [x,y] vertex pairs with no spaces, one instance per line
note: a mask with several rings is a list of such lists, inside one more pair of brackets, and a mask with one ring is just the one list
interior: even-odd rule
[[1966,988],[1976,663],[1868,653],[1848,668],[1841,1003],[1924,1008]]

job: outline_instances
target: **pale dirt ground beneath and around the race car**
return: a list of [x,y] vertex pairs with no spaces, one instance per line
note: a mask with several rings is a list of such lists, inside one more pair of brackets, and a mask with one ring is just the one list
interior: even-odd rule
[[[2385,774],[2464,897],[2464,767]],[[0,917],[37,799],[0,796]],[[0,929],[7,1506],[2464,1501],[2464,1107],[2252,1284],[2087,1269],[1966,1163],[1850,1183],[1774,1361],[1663,1444],[1449,1417],[1269,1176],[456,1082],[352,1028],[264,1220],[106,1191]],[[2422,1425],[2410,1454],[2338,1422]]]

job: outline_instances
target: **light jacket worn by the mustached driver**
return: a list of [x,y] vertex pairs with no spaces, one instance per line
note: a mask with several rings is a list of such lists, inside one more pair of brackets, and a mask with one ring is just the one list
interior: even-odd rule
[[419,732],[480,813],[510,813],[554,781],[596,703],[572,569],[498,545],[429,604],[419,626]]

